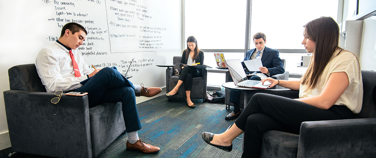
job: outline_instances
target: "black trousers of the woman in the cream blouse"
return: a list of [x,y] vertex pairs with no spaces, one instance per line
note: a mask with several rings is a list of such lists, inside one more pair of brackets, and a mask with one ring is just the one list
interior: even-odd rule
[[262,134],[266,131],[299,134],[300,124],[304,121],[351,119],[352,114],[343,105],[333,105],[323,110],[290,98],[257,93],[235,121],[237,127],[244,131],[242,158],[260,156]]

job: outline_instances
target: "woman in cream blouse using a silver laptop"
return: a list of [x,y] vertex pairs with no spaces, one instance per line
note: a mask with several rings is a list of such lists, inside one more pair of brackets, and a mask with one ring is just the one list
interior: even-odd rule
[[339,28],[331,17],[320,17],[304,27],[303,42],[312,53],[300,80],[262,79],[299,90],[299,98],[253,95],[232,127],[221,134],[202,133],[209,145],[231,151],[232,140],[244,132],[242,157],[259,157],[262,134],[269,130],[299,134],[304,121],[351,119],[362,108],[363,83],[357,57],[338,46]]

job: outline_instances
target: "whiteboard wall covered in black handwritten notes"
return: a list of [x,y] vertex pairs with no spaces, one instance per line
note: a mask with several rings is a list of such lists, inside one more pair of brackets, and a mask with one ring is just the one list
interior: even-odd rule
[[181,6],[177,0],[2,0],[2,68],[35,63],[64,24],[77,22],[88,31],[77,50],[90,67],[116,66],[135,84],[164,87],[165,68],[155,65],[181,55]]

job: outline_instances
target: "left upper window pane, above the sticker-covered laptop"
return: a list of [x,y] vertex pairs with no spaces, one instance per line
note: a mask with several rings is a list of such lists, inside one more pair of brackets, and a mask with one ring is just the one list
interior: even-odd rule
[[195,36],[200,49],[244,49],[246,2],[185,0],[183,41]]

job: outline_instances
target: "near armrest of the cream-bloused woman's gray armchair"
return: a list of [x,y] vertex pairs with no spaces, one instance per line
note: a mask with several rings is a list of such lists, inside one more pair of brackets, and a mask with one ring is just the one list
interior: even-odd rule
[[376,118],[302,122],[297,157],[374,157],[375,131]]

